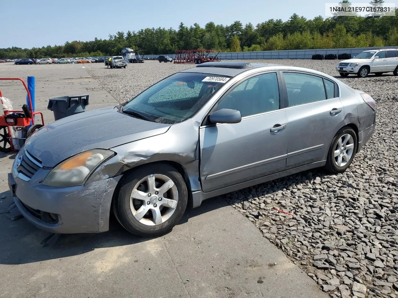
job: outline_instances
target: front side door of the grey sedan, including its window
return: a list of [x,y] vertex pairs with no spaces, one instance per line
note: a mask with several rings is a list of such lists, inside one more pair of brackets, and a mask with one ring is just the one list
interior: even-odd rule
[[279,109],[277,73],[244,79],[222,97],[217,109],[222,108],[239,110],[242,121],[199,129],[203,192],[283,171],[287,159],[287,114],[285,109]]

